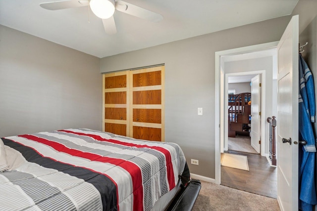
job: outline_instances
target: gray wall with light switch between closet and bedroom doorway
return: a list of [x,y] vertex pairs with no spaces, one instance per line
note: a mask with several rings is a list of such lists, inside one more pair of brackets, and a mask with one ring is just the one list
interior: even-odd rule
[[[278,41],[290,16],[101,59],[101,72],[165,64],[165,140],[179,144],[192,173],[215,178],[215,52]],[[203,108],[203,116],[197,108]]]

